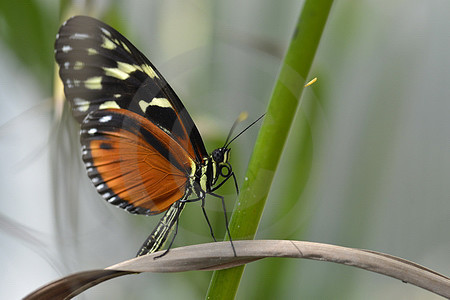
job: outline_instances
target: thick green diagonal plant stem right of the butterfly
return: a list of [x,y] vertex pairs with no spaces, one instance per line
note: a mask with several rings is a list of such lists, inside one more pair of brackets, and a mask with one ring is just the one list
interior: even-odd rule
[[[306,0],[284,58],[230,222],[234,239],[253,239],[332,0]],[[238,253],[239,255],[239,253]],[[233,299],[244,267],[216,271],[207,299]]]

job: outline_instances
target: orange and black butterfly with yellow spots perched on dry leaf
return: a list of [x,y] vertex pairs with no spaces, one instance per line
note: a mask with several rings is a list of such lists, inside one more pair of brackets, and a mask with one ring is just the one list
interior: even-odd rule
[[[82,158],[97,191],[130,213],[166,212],[137,255],[161,249],[187,202],[202,201],[211,228],[206,195],[224,205],[214,191],[230,178],[237,189],[228,162],[231,141],[209,155],[167,81],[123,35],[99,20],[75,16],[63,23],[55,57],[72,114],[81,123]],[[226,213],[225,221],[231,240]]]

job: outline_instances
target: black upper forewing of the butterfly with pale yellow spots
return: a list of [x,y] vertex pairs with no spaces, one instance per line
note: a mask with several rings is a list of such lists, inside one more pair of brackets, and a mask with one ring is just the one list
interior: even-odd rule
[[55,53],[66,98],[79,122],[93,111],[127,109],[171,135],[197,162],[207,156],[178,96],[115,29],[90,17],[73,17],[61,26]]

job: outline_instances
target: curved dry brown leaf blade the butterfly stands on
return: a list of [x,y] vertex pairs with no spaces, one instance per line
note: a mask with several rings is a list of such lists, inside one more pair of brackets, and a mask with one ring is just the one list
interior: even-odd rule
[[121,262],[104,270],[69,275],[36,290],[24,299],[70,299],[91,286],[122,275],[141,272],[220,270],[265,257],[307,258],[355,266],[450,298],[450,278],[416,263],[384,253],[301,241],[255,240],[234,241],[233,244],[236,257],[229,242],[174,248],[160,258],[155,259],[162,252],[156,252]]

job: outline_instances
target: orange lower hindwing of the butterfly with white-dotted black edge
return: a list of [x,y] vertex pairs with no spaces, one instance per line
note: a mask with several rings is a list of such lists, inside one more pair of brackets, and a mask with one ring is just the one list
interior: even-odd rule
[[187,198],[193,158],[158,126],[124,109],[91,112],[81,125],[83,161],[97,191],[132,213],[152,215]]

